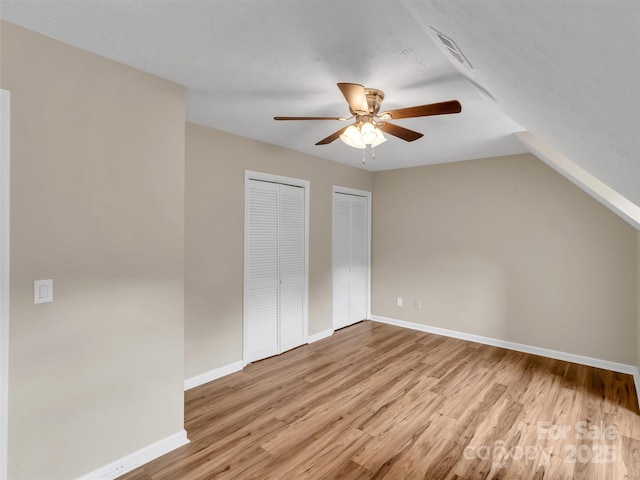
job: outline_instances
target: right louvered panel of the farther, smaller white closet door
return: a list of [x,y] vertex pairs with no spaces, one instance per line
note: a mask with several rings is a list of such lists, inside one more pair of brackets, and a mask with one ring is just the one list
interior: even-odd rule
[[367,211],[366,197],[351,196],[349,324],[367,318],[367,259],[369,250]]

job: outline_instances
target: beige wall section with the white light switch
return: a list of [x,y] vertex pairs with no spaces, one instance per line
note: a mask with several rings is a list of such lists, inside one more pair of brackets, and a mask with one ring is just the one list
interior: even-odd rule
[[9,475],[77,478],[183,428],[184,92],[7,23],[1,53]]

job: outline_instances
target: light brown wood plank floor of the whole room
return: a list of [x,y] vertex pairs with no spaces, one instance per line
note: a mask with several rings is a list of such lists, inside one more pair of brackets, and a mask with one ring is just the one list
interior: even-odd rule
[[375,322],[187,391],[185,428],[121,480],[640,480],[630,375]]

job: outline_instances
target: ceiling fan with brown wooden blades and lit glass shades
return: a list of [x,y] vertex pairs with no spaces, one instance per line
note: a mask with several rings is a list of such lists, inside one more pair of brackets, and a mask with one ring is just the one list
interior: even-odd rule
[[316,145],[327,145],[337,138],[355,148],[375,147],[387,139],[382,132],[401,138],[407,142],[422,137],[422,133],[395,125],[389,120],[399,118],[427,117],[430,115],[445,115],[460,113],[462,105],[457,100],[431,103],[415,107],[399,108],[380,112],[380,105],[384,99],[384,92],[375,88],[365,88],[357,83],[338,83],[338,88],[349,104],[350,117],[273,117],[274,120],[340,120],[343,122],[355,118],[355,122]]

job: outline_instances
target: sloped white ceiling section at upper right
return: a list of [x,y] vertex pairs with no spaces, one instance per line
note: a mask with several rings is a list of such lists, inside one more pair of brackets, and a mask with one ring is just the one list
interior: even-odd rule
[[500,110],[640,205],[640,2],[407,2]]

